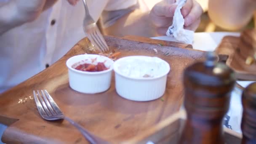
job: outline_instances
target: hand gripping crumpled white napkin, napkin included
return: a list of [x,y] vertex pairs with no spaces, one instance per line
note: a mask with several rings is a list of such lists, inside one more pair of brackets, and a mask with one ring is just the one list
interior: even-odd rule
[[[202,13],[203,9],[196,0],[162,0],[152,8],[150,18],[159,35],[170,35],[191,44],[191,35],[199,26]],[[171,31],[168,30],[170,25],[173,27],[170,27]]]

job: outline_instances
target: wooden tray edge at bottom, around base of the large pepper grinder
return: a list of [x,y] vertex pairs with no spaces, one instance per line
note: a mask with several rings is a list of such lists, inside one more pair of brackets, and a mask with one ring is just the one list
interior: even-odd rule
[[[181,110],[122,144],[178,144],[185,120],[186,112]],[[241,144],[242,134],[231,129],[224,128],[224,137],[226,144]]]

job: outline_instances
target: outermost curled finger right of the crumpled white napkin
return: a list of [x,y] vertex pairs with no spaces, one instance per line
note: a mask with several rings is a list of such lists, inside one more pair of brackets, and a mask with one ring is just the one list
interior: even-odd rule
[[203,8],[193,0],[193,7],[190,13],[184,18],[185,19],[185,27],[188,27],[190,24],[194,23],[203,13]]

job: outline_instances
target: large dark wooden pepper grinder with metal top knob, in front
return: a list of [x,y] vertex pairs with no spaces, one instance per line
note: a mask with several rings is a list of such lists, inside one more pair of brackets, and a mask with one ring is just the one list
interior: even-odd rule
[[215,53],[208,52],[206,61],[184,71],[187,120],[180,144],[224,144],[223,118],[229,109],[235,73],[216,61]]

